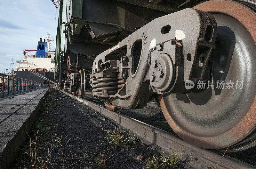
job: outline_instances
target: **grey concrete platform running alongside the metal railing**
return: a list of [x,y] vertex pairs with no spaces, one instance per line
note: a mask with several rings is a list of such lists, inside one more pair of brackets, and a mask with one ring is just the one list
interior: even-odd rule
[[0,168],[8,168],[36,120],[48,88],[0,100]]

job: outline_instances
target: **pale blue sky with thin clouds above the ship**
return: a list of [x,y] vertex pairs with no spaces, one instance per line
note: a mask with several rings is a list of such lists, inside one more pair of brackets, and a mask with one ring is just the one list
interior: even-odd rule
[[51,0],[0,0],[0,73],[4,66],[9,72],[12,58],[16,70],[15,61],[23,59],[24,49],[36,50],[47,32],[54,37],[51,50],[55,50],[58,16]]

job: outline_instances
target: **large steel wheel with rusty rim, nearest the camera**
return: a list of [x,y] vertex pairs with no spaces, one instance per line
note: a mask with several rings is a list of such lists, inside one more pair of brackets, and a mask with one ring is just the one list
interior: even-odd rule
[[226,0],[194,8],[211,13],[218,25],[209,78],[244,81],[243,88],[218,89],[215,84],[214,89],[160,95],[162,111],[175,133],[190,144],[219,151],[230,146],[228,152],[250,148],[256,144],[256,14]]

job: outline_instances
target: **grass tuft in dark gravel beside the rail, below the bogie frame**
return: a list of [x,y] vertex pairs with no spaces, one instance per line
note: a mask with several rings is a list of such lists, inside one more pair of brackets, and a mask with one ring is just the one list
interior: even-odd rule
[[[105,130],[107,131],[107,130]],[[135,133],[136,135],[136,133]],[[135,135],[129,139],[125,136],[125,133],[120,130],[117,126],[112,133],[108,133],[107,136],[104,136],[104,140],[101,140],[101,145],[112,144],[112,148],[116,149],[118,146],[131,146],[132,142],[135,140]]]

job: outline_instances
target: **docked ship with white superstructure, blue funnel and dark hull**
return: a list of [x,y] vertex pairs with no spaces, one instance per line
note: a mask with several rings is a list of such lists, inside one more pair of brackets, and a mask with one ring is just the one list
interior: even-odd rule
[[[52,38],[48,34],[47,42],[40,38],[36,50],[24,50],[23,60],[16,60],[18,66],[14,76],[38,83],[54,83],[55,51],[50,50],[51,41]],[[28,52],[36,53],[28,54]]]

